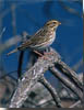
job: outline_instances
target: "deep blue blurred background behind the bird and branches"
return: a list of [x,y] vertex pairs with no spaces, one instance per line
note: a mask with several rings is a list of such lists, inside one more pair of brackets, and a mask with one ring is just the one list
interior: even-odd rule
[[[83,18],[82,18],[82,6],[80,3],[65,2],[64,4],[75,9],[79,12],[73,14],[68,12],[61,7],[59,0],[5,0],[3,8],[0,11],[10,9],[11,4],[15,4],[15,20],[16,20],[16,34],[21,34],[23,31],[28,34],[34,34],[40,29],[45,22],[51,19],[60,21],[62,24],[57,30],[57,38],[52,44],[52,47],[60,53],[62,59],[69,65],[74,66],[83,57]],[[2,28],[7,28],[2,36],[4,43],[13,36],[12,28],[12,13],[11,11],[2,19]],[[7,50],[3,55],[3,65],[7,73],[17,69],[17,55],[12,54],[8,58],[5,53],[15,48],[15,46]],[[26,52],[27,53],[27,52]],[[27,54],[25,53],[23,68],[27,63]],[[82,67],[79,68],[77,73],[82,72]],[[16,74],[13,74],[15,76]],[[47,76],[50,78],[50,76]]]

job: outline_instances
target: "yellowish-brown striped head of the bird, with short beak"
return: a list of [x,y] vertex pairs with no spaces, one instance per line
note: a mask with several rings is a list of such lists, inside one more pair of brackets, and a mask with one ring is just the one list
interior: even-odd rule
[[61,23],[59,21],[50,20],[45,24],[45,26],[51,30],[56,30],[60,24]]

